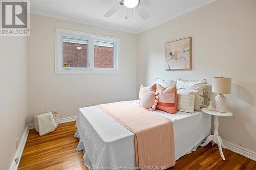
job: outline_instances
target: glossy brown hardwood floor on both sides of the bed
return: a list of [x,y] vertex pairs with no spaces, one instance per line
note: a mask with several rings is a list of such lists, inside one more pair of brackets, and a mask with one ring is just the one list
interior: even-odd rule
[[[44,136],[30,130],[18,169],[88,169],[83,164],[83,153],[75,150],[75,131],[75,122],[59,124],[54,132]],[[226,161],[221,159],[219,150],[208,144],[181,157],[169,169],[256,169],[256,161],[227,149],[224,155]]]

